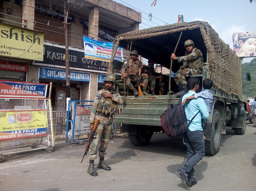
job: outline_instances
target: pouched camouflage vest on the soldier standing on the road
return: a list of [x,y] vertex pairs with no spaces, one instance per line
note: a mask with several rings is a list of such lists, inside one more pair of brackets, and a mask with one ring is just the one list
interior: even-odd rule
[[[102,93],[109,93],[109,91],[102,89]],[[97,111],[104,114],[114,115],[117,111],[117,104],[115,104],[110,98],[101,97]]]

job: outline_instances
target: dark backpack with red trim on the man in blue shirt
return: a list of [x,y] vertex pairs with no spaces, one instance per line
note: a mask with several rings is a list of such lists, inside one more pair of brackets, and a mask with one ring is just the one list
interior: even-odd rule
[[[195,116],[187,123],[186,114],[181,105],[181,99],[183,96],[180,97],[178,104],[171,104],[171,107],[166,109],[161,119],[161,125],[164,132],[171,138],[176,138],[188,131],[189,124],[193,121],[199,111],[195,114]],[[191,99],[187,100],[185,104],[189,103]]]

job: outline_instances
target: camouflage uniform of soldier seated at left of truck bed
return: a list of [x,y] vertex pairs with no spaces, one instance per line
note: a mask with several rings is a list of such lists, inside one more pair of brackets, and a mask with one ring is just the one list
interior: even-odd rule
[[[137,81],[138,75],[139,75],[139,68],[141,68],[142,63],[137,59],[135,62],[133,60],[129,60],[129,63],[127,61],[124,62],[124,65],[121,68],[121,73],[126,73],[127,77],[125,78],[125,84],[128,85],[129,89],[133,87],[130,79]],[[141,83],[145,86],[143,87],[143,91],[147,90],[147,84],[149,80],[149,75],[147,74],[141,74]],[[123,80],[124,77],[121,77]]]

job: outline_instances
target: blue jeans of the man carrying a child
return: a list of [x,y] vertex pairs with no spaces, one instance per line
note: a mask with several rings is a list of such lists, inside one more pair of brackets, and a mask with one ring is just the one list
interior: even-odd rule
[[204,138],[203,131],[188,130],[183,134],[184,143],[187,147],[186,164],[181,168],[181,171],[187,174],[188,180],[194,180],[194,166],[203,158]]

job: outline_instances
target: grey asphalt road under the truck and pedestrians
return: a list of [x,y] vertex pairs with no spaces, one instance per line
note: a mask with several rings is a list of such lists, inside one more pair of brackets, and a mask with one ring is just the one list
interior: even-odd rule
[[[175,175],[186,160],[181,138],[153,135],[137,147],[124,136],[109,140],[105,163],[112,170],[87,173],[81,159],[85,145],[55,143],[53,152],[37,150],[12,155],[0,163],[1,191],[255,191],[256,128],[247,123],[244,135],[231,129],[221,138],[215,156],[204,156],[194,167],[198,184],[186,188]],[[98,163],[98,158],[95,163]],[[97,166],[96,166],[97,167]]]

